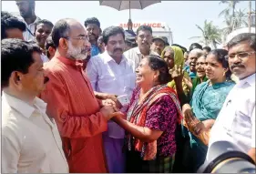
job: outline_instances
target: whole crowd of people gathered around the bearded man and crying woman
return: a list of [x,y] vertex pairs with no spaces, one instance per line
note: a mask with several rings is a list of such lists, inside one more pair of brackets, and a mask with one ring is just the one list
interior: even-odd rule
[[211,145],[255,158],[255,33],[187,50],[139,26],[1,12],[3,173],[197,172]]

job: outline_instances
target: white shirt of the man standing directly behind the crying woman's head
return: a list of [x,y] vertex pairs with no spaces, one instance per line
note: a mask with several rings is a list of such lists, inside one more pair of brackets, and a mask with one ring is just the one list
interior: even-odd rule
[[[154,51],[150,51],[150,55],[156,55],[159,56],[158,53],[154,52]],[[139,66],[140,61],[143,58],[143,55],[141,54],[141,52],[139,51],[138,46],[129,49],[128,51],[126,51],[124,53],[124,56],[127,57],[129,60],[134,62],[134,71],[136,70],[136,68]]]

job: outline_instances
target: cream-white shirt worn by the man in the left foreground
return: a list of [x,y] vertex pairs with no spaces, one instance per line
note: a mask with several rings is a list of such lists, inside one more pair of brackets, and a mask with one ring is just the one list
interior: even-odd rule
[[68,173],[56,123],[38,97],[32,107],[2,92],[2,172]]

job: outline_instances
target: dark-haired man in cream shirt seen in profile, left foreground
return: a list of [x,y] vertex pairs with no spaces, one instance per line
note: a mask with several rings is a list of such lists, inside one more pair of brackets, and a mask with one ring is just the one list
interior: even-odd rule
[[36,97],[48,81],[40,54],[20,39],[1,42],[3,173],[68,172],[56,123]]

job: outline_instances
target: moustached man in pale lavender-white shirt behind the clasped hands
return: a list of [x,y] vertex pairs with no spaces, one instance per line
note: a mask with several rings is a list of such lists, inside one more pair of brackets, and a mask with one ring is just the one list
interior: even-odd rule
[[[106,51],[94,56],[87,64],[87,76],[93,89],[97,92],[127,95],[131,97],[135,87],[133,62],[123,56],[125,48],[124,30],[110,26],[103,31]],[[124,130],[115,122],[108,122],[108,132],[103,134],[105,153],[110,173],[124,172]]]

